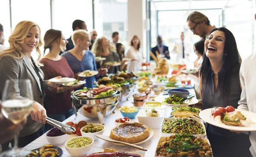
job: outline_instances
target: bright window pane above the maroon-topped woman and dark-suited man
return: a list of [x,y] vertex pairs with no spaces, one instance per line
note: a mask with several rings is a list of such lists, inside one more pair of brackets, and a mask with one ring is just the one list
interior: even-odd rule
[[65,37],[72,35],[74,20],[83,20],[88,31],[93,29],[92,0],[52,0],[52,28],[61,30]]

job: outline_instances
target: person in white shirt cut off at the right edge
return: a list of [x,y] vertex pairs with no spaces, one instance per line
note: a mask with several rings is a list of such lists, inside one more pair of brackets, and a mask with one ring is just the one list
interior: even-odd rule
[[[238,102],[238,109],[256,113],[256,53],[245,58],[241,63],[240,68],[240,83],[241,83],[241,100]],[[252,157],[256,157],[256,131],[250,131],[250,152]]]

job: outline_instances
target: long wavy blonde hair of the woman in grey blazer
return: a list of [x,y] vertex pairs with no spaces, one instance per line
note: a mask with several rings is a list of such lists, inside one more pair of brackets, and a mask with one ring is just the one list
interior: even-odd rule
[[41,63],[38,62],[38,60],[40,60],[41,58],[41,51],[39,49],[40,46],[43,45],[42,43],[42,37],[41,37],[41,29],[38,26],[38,24],[32,22],[32,21],[20,21],[15,29],[13,30],[12,34],[9,37],[9,44],[10,47],[9,49],[5,49],[0,53],[0,59],[3,56],[10,56],[15,58],[16,60],[23,60],[24,59],[24,53],[23,53],[23,49],[20,46],[20,43],[24,43],[24,39],[26,38],[26,36],[29,33],[29,29],[31,29],[32,27],[37,26],[40,33],[39,33],[39,43],[38,46],[35,48],[36,52],[38,53],[38,59],[36,60],[36,64],[38,66],[42,66]]

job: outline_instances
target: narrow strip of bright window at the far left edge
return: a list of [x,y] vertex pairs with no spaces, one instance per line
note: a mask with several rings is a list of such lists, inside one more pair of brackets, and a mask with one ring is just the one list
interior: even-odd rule
[[1,1],[0,15],[2,15],[0,23],[3,25],[3,35],[6,39],[4,45],[9,46],[8,38],[11,34],[9,0]]

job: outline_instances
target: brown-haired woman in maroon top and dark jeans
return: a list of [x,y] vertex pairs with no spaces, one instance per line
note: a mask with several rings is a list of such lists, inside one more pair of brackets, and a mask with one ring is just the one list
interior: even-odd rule
[[[44,64],[40,68],[44,71],[45,79],[48,80],[52,76],[75,77],[66,58],[59,55],[60,51],[66,50],[67,43],[64,35],[59,30],[49,29],[45,33],[44,53],[46,49],[49,49],[49,53],[40,61]],[[62,122],[74,114],[70,98],[71,91],[73,91],[72,87],[60,86],[45,92],[44,107],[48,117]],[[51,128],[52,126],[46,124],[44,131],[46,132]]]

